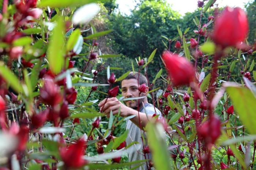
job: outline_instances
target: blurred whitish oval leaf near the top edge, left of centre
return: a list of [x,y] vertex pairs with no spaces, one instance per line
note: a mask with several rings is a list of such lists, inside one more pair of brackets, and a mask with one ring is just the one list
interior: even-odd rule
[[99,13],[99,5],[95,3],[86,4],[78,8],[72,17],[73,24],[89,23]]

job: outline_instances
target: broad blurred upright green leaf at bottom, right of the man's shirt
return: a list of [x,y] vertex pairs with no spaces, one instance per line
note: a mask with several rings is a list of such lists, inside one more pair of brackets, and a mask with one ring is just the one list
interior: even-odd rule
[[164,129],[162,124],[148,122],[146,125],[148,145],[152,152],[155,168],[158,170],[170,170],[170,154],[165,142]]

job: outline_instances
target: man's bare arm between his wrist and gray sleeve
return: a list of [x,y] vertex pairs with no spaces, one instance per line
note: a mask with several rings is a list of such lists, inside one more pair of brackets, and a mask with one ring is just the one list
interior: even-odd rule
[[[131,116],[131,115],[136,115],[135,117],[131,118],[130,120],[132,121],[132,123],[136,124],[138,127],[140,127],[140,125],[141,125],[142,130],[144,129],[144,127],[146,127],[148,120],[151,119],[151,116],[147,117],[146,113],[142,113],[142,112],[138,113],[138,111],[136,111],[134,109],[131,109],[129,116]],[[140,125],[139,125],[139,117],[140,117]]]

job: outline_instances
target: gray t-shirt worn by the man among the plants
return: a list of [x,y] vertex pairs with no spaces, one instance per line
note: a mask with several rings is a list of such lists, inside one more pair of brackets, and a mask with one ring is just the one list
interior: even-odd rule
[[[144,104],[144,106],[145,106],[147,115],[153,115],[156,111],[157,114],[159,115],[159,117],[161,117],[161,112],[157,108],[154,109],[154,105],[152,105],[150,103],[146,103],[146,104]],[[140,108],[140,112],[145,113],[144,107]],[[144,160],[145,157],[142,152],[143,145],[142,145],[140,128],[136,124],[132,123],[131,120],[127,120],[126,121],[126,129],[129,130],[128,136],[126,138],[126,144],[129,145],[133,141],[136,141],[136,142],[139,142],[141,145],[140,148],[136,148],[137,151],[132,152],[131,154],[128,155],[129,162],[137,161],[137,160]],[[146,137],[146,133],[143,130],[142,130],[142,133],[144,133],[144,137]],[[135,145],[133,145],[132,147],[135,147]],[[147,159],[151,159],[151,154],[146,154],[146,156],[147,156]],[[135,167],[138,165],[139,164],[135,164],[135,165],[132,165],[132,167]],[[140,166],[136,170],[144,170],[144,169],[147,169],[146,162],[145,162],[145,165]]]

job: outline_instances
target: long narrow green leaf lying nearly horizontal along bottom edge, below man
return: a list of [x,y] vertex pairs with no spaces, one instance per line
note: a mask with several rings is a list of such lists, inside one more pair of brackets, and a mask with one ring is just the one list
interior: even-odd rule
[[89,169],[119,169],[123,168],[124,166],[134,165],[141,162],[146,162],[146,160],[138,160],[132,162],[125,162],[125,163],[114,163],[114,164],[106,164],[106,163],[89,163],[86,166]]

